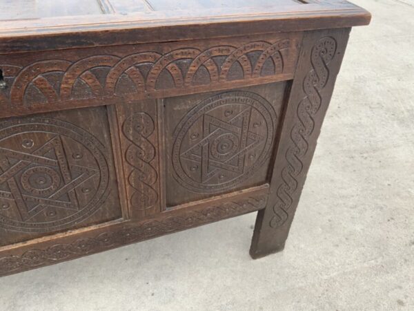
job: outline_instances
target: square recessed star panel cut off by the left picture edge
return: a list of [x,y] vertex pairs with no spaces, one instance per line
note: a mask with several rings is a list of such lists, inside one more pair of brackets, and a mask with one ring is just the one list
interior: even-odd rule
[[0,122],[0,245],[121,217],[106,108]]

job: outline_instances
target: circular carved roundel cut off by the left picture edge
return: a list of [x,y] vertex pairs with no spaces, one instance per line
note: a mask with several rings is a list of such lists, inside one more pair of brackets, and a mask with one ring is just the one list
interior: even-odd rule
[[32,117],[0,124],[0,227],[51,232],[80,223],[108,195],[103,145],[83,129]]

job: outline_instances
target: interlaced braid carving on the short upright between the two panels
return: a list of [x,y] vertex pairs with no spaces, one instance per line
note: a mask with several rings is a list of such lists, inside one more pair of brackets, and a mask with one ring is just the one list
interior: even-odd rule
[[150,164],[155,158],[155,147],[148,140],[155,124],[150,115],[135,113],[125,120],[123,131],[132,142],[125,154],[126,161],[134,168],[128,176],[130,186],[135,189],[130,204],[137,209],[149,209],[158,200],[157,191],[152,187],[157,182],[157,171]]

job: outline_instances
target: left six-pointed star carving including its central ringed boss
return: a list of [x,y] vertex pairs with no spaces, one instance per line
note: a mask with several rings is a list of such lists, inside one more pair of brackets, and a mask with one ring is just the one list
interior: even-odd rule
[[[48,209],[79,210],[75,189],[99,171],[70,164],[59,135],[30,153],[0,147],[0,198],[15,202],[21,221]],[[33,185],[34,183],[34,185]]]

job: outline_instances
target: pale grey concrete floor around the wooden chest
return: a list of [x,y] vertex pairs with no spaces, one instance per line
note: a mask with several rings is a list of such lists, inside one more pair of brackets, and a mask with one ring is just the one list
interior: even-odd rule
[[355,28],[284,252],[255,214],[0,279],[0,310],[414,310],[414,2]]

